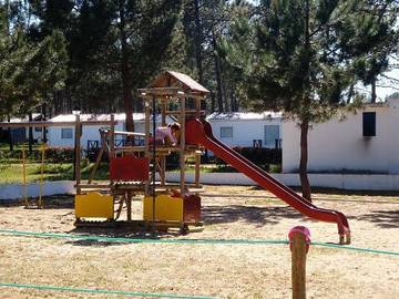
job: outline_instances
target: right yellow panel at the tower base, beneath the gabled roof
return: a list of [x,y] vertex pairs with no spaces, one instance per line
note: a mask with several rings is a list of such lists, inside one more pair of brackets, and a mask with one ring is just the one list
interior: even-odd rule
[[[144,220],[153,219],[152,196],[144,197],[143,214]],[[183,198],[171,197],[164,194],[157,195],[155,197],[155,220],[183,223]]]

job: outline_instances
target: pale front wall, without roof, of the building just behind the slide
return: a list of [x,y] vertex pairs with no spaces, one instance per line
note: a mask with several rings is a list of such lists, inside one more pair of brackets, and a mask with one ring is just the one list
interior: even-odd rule
[[[272,120],[208,120],[212,125],[213,134],[216,138],[229,146],[253,146],[254,140],[262,140],[262,146],[265,147],[265,125],[280,126],[282,138],[282,118]],[[221,137],[221,127],[232,126],[233,137]]]

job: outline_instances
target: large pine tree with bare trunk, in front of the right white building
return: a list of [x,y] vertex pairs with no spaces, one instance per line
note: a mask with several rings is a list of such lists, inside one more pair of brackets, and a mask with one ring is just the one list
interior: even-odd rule
[[397,41],[398,6],[367,0],[260,1],[250,104],[284,110],[298,120],[299,174],[309,200],[309,125],[331,117],[346,103],[350,86],[365,80],[361,71],[374,79],[383,71],[383,63],[375,66],[380,53],[390,51],[387,39]]

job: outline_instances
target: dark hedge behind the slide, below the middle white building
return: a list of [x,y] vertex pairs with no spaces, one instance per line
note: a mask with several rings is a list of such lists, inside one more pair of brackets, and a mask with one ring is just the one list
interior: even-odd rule
[[[268,171],[270,165],[273,166],[273,171],[276,171],[278,167],[275,165],[282,164],[282,148],[257,148],[257,147],[233,147],[238,154],[249,159],[252,163],[257,166]],[[221,158],[215,158],[215,163],[217,165],[226,165],[227,163]]]

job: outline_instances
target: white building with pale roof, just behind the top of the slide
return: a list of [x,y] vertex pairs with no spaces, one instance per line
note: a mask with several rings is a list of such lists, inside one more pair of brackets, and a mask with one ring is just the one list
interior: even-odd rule
[[227,145],[282,147],[282,113],[213,113],[206,120],[215,137]]

